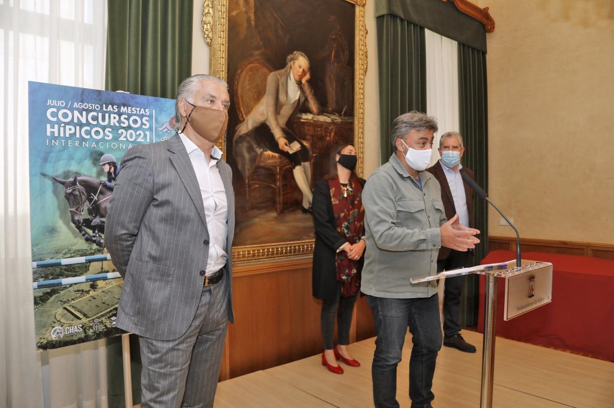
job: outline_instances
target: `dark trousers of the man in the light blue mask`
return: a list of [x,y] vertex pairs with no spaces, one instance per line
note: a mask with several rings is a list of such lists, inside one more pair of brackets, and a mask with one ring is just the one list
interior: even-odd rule
[[[452,250],[448,258],[437,261],[437,272],[465,268],[468,262],[468,252]],[[446,287],[443,290],[443,333],[447,337],[456,336],[462,329],[459,313],[464,282],[465,275],[446,278]]]

